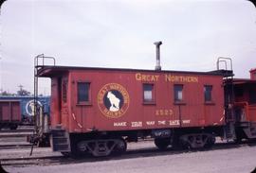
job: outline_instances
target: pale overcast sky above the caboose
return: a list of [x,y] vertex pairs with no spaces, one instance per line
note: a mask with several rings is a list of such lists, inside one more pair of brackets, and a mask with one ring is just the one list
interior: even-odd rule
[[[1,86],[33,90],[33,58],[59,65],[211,71],[233,60],[237,78],[256,67],[256,10],[245,0],[8,0],[1,9]],[[42,80],[41,93],[49,94]]]

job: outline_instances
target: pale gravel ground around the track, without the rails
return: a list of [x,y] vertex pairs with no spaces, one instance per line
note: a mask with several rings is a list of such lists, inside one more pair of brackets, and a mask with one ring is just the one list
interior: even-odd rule
[[[140,142],[129,144],[129,150],[137,148],[152,148],[152,142]],[[4,151],[2,151],[2,154]],[[13,151],[13,153],[15,153]],[[23,152],[18,152],[22,155]],[[162,154],[161,154],[162,153]],[[8,154],[8,153],[5,153]],[[50,149],[36,148],[35,155],[50,154]],[[55,153],[57,154],[57,153]],[[11,153],[9,153],[11,157]],[[3,158],[3,157],[2,157]],[[9,165],[4,168],[11,173],[80,173],[80,172],[103,172],[103,173],[162,173],[162,172],[194,172],[194,173],[249,173],[256,167],[256,147],[218,148],[207,151],[193,152],[151,152],[148,154],[137,153],[136,156],[121,156],[115,159],[101,159],[84,161],[72,164],[60,163],[57,165]]]

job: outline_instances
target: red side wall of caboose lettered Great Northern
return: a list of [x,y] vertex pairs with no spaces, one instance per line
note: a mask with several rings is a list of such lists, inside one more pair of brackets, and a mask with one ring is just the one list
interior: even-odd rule
[[[65,104],[64,80],[67,80]],[[88,102],[78,103],[79,82],[90,85]],[[153,84],[154,100],[150,103],[143,101],[145,83]],[[179,103],[174,103],[175,84],[183,85],[184,100]],[[52,125],[62,124],[69,132],[222,126],[221,84],[221,76],[206,74],[69,70],[62,79],[52,78]],[[210,102],[204,100],[205,85],[212,86]],[[124,95],[125,109],[121,112],[109,112],[100,103],[111,87],[119,88],[118,93]]]

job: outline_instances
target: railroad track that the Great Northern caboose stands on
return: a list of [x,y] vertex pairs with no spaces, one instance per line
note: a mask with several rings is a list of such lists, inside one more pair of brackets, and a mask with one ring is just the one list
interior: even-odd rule
[[220,143],[216,144],[210,149],[198,149],[198,150],[184,150],[178,149],[173,150],[169,148],[164,151],[160,151],[155,147],[139,148],[139,149],[130,149],[121,156],[108,156],[101,158],[94,158],[92,156],[84,158],[70,158],[64,157],[62,155],[55,156],[31,156],[24,158],[5,158],[0,159],[2,165],[11,165],[11,166],[28,166],[28,165],[54,165],[54,164],[79,164],[84,162],[101,162],[101,161],[111,161],[111,160],[122,160],[122,159],[132,159],[137,157],[152,157],[152,156],[164,156],[164,155],[174,155],[174,154],[184,154],[192,153],[196,151],[207,151],[207,150],[219,150],[219,149],[231,149],[234,147],[247,147],[252,146],[256,147],[256,143],[243,143],[243,144],[234,144],[234,143]]

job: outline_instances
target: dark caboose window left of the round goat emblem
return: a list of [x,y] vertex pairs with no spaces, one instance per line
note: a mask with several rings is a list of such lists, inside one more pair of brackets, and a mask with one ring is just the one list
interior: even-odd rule
[[90,83],[89,82],[78,82],[78,102],[89,102],[90,101]]

